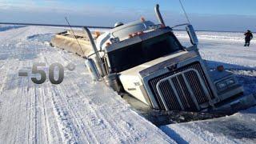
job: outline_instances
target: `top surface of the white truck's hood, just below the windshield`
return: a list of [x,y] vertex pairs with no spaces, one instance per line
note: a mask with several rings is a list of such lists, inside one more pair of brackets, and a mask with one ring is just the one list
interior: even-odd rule
[[161,70],[166,66],[172,66],[178,62],[186,59],[197,57],[198,54],[194,51],[178,51],[174,54],[169,54],[161,58],[154,59],[153,61],[143,63],[142,65],[135,66],[129,70],[122,71],[122,76],[139,76],[145,77],[148,74],[152,74],[157,70]]

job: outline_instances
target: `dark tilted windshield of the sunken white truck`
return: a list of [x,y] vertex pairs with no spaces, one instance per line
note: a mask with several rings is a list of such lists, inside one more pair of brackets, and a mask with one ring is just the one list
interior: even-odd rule
[[112,72],[121,72],[182,50],[174,34],[166,33],[108,53]]

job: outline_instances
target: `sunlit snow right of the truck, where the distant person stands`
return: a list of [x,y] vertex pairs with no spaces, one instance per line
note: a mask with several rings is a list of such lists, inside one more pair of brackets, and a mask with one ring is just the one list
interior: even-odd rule
[[[190,45],[190,40],[184,31],[175,31],[184,46]],[[256,40],[250,42],[250,47],[244,47],[242,33],[198,32],[200,54],[208,61],[226,63],[231,68],[243,67],[256,70]],[[210,65],[213,62],[210,62]],[[239,68],[238,67],[238,68]]]

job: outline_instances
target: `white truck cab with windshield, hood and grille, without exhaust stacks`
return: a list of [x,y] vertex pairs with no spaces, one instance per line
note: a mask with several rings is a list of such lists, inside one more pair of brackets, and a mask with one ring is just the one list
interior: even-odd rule
[[[186,49],[169,26],[131,22],[109,35],[118,40],[102,45],[108,73],[118,74],[126,93],[154,109],[201,111],[242,95],[233,74],[210,72],[197,46]],[[226,87],[219,86],[223,82]]]

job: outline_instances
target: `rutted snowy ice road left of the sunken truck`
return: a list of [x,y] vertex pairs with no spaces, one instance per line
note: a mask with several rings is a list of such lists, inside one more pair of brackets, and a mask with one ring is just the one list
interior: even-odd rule
[[[1,28],[1,27],[0,27]],[[51,28],[0,32],[0,143],[174,142],[103,84],[90,82],[84,60],[49,46]],[[36,85],[18,77],[35,62],[63,66],[64,81]],[[47,68],[46,68],[47,70]]]

